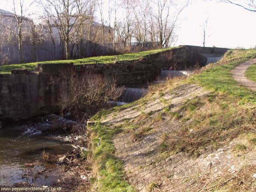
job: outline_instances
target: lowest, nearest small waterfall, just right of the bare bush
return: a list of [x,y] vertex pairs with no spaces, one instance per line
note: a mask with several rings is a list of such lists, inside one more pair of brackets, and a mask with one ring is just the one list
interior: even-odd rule
[[147,94],[148,90],[145,88],[130,88],[125,87],[122,96],[119,98],[120,102],[134,102]]

